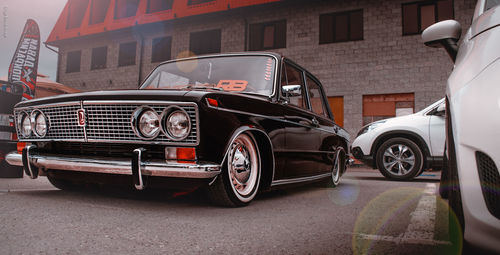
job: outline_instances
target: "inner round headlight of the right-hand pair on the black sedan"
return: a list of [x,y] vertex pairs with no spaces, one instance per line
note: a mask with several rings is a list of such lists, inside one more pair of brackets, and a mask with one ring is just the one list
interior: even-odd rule
[[160,117],[152,108],[141,107],[134,112],[132,127],[141,138],[154,139],[160,133]]

